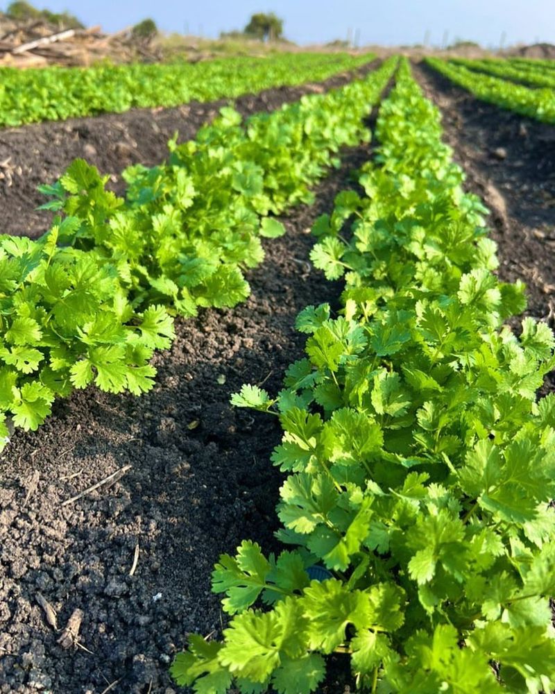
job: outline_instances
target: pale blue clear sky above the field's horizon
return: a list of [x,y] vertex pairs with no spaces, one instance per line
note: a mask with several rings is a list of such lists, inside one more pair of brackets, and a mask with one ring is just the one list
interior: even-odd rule
[[[361,44],[422,43],[455,38],[485,46],[504,43],[555,43],[554,0],[50,0],[37,7],[69,10],[85,24],[107,31],[153,17],[165,31],[202,33],[243,28],[253,12],[273,10],[284,19],[284,33],[301,44],[345,38],[359,31]],[[7,6],[0,0],[0,7]]]

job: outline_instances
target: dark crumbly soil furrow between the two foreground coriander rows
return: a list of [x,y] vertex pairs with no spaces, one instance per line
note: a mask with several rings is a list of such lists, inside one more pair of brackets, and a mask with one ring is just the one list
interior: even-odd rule
[[[316,205],[284,219],[288,233],[266,243],[246,303],[178,322],[151,393],[79,391],[38,432],[15,434],[0,456],[1,693],[101,694],[118,681],[110,692],[169,694],[187,632],[221,634],[212,567],[243,539],[275,548],[282,480],[269,462],[278,422],[232,409],[230,393],[244,382],[278,391],[304,344],[296,314],[338,296],[307,262],[307,231],[368,156],[368,146],[350,151]],[[62,507],[125,465],[115,484]],[[87,650],[56,643],[39,595],[59,629],[83,610]],[[330,677],[322,691],[342,694],[343,684]]]

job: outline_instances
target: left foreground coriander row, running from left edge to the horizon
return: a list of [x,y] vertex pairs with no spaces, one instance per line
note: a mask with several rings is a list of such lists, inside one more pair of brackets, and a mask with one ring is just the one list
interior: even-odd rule
[[395,65],[244,124],[223,108],[167,164],[127,169],[125,199],[83,160],[43,186],[61,213],[51,230],[0,236],[0,449],[6,416],[35,430],[75,387],[148,391],[171,316],[244,301],[260,237],[284,232],[268,215],[311,202],[341,146],[370,137],[364,116]]

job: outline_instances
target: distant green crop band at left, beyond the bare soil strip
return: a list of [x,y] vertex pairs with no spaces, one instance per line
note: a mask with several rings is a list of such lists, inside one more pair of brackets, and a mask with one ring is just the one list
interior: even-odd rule
[[0,68],[0,126],[64,120],[130,108],[177,106],[321,81],[374,56],[284,53],[170,65]]

